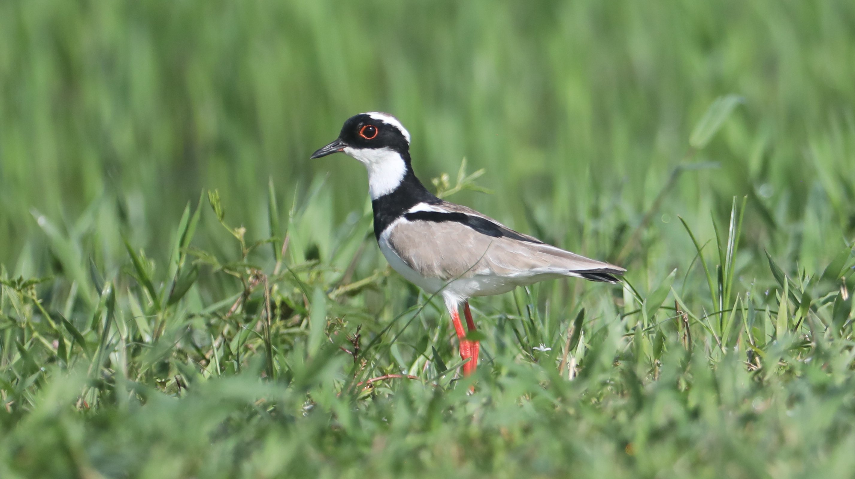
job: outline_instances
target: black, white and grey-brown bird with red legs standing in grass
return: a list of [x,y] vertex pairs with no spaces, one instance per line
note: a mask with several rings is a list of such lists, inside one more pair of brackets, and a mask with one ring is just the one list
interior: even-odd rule
[[480,341],[469,299],[507,293],[538,281],[575,276],[618,282],[626,272],[547,245],[528,234],[428,191],[416,178],[410,160],[410,132],[395,116],[378,111],[353,115],[339,137],[311,158],[344,152],[368,170],[374,212],[374,237],[398,274],[426,293],[439,294],[451,316],[463,359],[463,376],[478,365]]

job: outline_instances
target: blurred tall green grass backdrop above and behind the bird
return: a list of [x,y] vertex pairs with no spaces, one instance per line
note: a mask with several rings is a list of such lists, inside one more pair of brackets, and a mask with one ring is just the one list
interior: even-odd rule
[[[363,169],[308,157],[378,109],[410,129],[422,180],[467,157],[500,194],[457,201],[604,255],[581,230],[637,224],[726,93],[745,103],[696,157],[721,168],[681,178],[671,222],[649,232],[674,236],[654,252],[691,251],[675,216],[706,236],[734,195],[752,195],[748,227],[767,241],[759,208],[801,220],[811,192],[828,198],[836,248],[855,200],[853,23],[847,1],[3,2],[0,260],[39,257],[34,210],[59,222],[95,208],[168,251],[203,188],[262,237],[268,178],[290,198],[328,175],[338,224],[363,210]],[[114,243],[98,263],[123,257]]]

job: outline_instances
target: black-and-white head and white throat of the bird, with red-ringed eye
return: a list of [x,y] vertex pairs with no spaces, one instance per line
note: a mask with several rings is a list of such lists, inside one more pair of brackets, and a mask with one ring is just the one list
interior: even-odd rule
[[371,198],[379,198],[398,187],[410,168],[410,133],[392,115],[360,113],[345,121],[339,138],[311,157],[326,157],[339,151],[365,165]]

